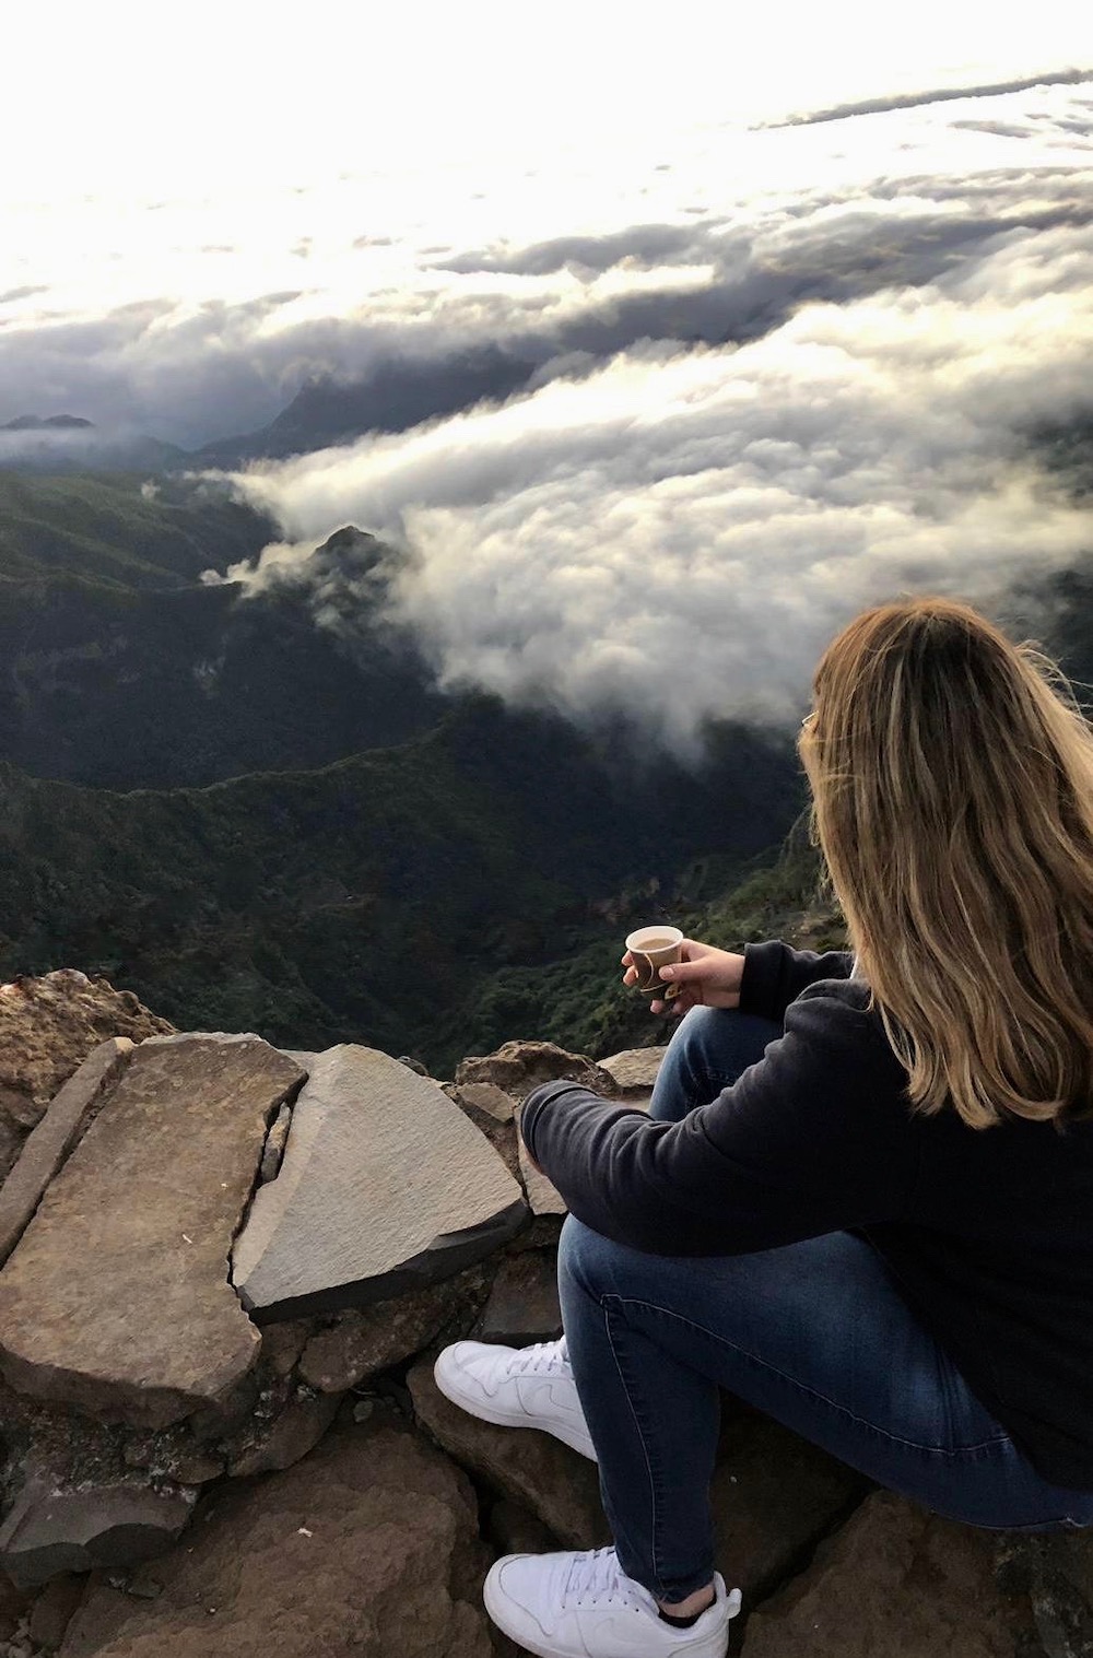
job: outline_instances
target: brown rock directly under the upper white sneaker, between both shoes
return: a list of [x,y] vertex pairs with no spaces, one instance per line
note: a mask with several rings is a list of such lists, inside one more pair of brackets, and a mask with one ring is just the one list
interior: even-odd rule
[[594,1462],[534,1428],[494,1428],[468,1416],[433,1381],[431,1360],[415,1365],[406,1384],[418,1419],[436,1442],[456,1462],[531,1509],[564,1549],[597,1549],[610,1542]]

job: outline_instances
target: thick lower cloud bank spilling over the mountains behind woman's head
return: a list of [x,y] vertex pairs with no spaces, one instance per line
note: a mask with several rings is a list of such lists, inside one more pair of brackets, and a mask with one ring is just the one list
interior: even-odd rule
[[[411,549],[391,608],[441,680],[675,746],[788,720],[823,643],[901,590],[989,607],[1093,524],[1030,433],[1093,406],[1093,230],[1010,229],[930,284],[808,303],[743,345],[647,343],[581,380],[236,479],[284,526]],[[294,579],[299,579],[294,577]],[[352,592],[340,602],[352,604]]]

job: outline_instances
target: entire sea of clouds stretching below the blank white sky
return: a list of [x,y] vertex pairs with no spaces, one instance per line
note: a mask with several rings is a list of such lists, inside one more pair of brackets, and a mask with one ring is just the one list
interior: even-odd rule
[[[650,156],[413,222],[375,201],[347,219],[347,181],[322,221],[338,257],[304,197],[264,292],[78,317],[28,282],[0,380],[22,408],[46,385],[43,413],[65,398],[197,443],[317,371],[403,371],[426,408],[433,378],[451,408],[476,363],[454,414],[232,473],[282,539],[227,574],[307,585],[313,549],[357,524],[403,550],[388,604],[443,683],[629,710],[682,748],[708,716],[798,716],[864,604],[1005,610],[1093,550],[1042,446],[1093,410],[1088,78]],[[202,280],[232,254],[207,244]],[[506,373],[483,398],[483,351],[521,390]],[[347,627],[352,579],[332,608],[322,567],[323,620]]]

